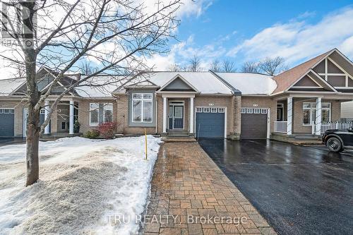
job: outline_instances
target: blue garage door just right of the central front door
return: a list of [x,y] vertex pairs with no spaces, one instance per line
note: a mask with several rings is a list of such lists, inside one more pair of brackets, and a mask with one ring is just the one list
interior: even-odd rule
[[196,137],[225,138],[225,108],[196,108]]

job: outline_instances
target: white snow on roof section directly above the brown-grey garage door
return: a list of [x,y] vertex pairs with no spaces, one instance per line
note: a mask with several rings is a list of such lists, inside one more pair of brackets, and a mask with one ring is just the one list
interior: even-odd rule
[[272,76],[260,73],[217,73],[242,95],[270,95],[277,88]]

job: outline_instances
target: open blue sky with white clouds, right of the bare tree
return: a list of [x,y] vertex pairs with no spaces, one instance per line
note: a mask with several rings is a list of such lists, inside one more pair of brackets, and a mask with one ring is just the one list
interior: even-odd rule
[[155,71],[186,65],[194,55],[205,70],[214,59],[241,68],[275,56],[292,67],[335,47],[353,59],[352,1],[184,0],[179,19],[179,41],[148,60]]

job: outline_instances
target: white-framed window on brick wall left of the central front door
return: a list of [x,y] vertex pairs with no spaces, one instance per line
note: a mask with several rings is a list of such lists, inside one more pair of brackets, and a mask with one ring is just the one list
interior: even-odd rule
[[152,122],[152,94],[134,93],[132,95],[132,121]]

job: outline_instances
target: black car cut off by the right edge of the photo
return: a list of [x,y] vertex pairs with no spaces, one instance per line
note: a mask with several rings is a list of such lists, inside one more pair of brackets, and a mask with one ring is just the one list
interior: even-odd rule
[[328,130],[323,134],[323,144],[330,151],[353,150],[353,127],[345,130]]

